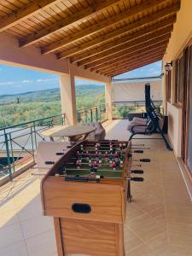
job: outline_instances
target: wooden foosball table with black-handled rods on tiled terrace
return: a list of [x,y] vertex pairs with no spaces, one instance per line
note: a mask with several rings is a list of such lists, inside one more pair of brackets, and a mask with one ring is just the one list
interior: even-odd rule
[[58,255],[125,255],[130,182],[143,181],[131,177],[143,173],[131,171],[132,153],[131,142],[83,141],[57,162],[47,161],[53,166],[41,183],[42,205],[54,217]]

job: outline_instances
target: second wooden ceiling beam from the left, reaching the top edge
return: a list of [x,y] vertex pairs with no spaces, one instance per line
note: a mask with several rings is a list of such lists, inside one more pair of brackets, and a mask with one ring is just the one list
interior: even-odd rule
[[60,29],[72,25],[74,22],[84,20],[85,18],[89,18],[91,15],[96,15],[102,10],[108,9],[110,6],[114,4],[121,3],[122,0],[105,0],[97,2],[85,9],[80,10],[76,14],[67,16],[65,19],[58,20],[52,25],[43,28],[38,32],[34,32],[26,38],[20,39],[20,47],[27,46],[30,44],[35,44],[39,40],[42,40],[44,37],[49,36],[50,34],[59,31]]

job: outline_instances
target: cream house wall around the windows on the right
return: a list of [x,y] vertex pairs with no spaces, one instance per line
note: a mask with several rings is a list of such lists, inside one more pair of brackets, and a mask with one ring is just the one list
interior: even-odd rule
[[[181,8],[177,13],[177,20],[173,26],[172,37],[166,49],[163,61],[175,61],[183,48],[192,38],[192,0],[182,0]],[[181,156],[181,141],[182,141],[182,113],[181,108],[174,102],[175,79],[174,65],[172,68],[172,104],[167,103],[167,113],[169,117],[169,137],[172,142],[172,147],[176,155]],[[173,127],[174,125],[174,127]]]

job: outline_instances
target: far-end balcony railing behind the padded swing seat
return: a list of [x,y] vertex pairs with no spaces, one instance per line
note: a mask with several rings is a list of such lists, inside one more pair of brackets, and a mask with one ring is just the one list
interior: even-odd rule
[[[153,101],[155,107],[160,108],[162,101]],[[145,112],[145,102],[113,102],[113,119],[126,118],[130,112]]]

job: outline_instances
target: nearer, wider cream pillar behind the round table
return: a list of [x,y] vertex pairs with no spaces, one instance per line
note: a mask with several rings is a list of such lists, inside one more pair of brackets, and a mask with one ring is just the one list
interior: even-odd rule
[[60,75],[61,110],[66,113],[66,125],[77,125],[75,79],[72,73]]

